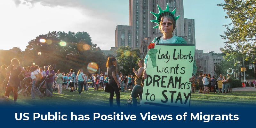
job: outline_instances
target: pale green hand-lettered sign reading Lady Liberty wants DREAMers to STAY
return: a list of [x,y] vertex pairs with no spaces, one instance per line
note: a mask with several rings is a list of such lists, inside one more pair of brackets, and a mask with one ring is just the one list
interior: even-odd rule
[[141,107],[189,107],[195,45],[156,44],[150,50]]

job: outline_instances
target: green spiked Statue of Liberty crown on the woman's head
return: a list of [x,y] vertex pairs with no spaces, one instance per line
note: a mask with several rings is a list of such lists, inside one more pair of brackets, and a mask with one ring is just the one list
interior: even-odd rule
[[158,6],[158,4],[157,4],[157,7],[158,7],[158,10],[159,10],[158,14],[150,11],[150,13],[152,13],[156,17],[155,20],[150,20],[151,22],[157,23],[157,26],[155,26],[153,28],[158,28],[159,27],[159,23],[160,23],[161,18],[163,16],[170,16],[170,17],[172,17],[172,19],[175,22],[180,17],[180,16],[177,16],[177,17],[174,16],[176,9],[174,9],[173,11],[169,11],[168,3],[167,3],[167,6],[166,6],[166,9],[164,11]]

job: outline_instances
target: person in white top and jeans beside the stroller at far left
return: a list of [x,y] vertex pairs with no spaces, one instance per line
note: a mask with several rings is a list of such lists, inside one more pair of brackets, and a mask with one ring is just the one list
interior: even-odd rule
[[39,98],[43,98],[44,96],[41,94],[41,92],[36,87],[37,82],[39,81],[39,75],[38,71],[36,70],[35,66],[31,67],[31,79],[32,79],[32,87],[31,87],[31,99],[36,99],[35,94],[39,95]]

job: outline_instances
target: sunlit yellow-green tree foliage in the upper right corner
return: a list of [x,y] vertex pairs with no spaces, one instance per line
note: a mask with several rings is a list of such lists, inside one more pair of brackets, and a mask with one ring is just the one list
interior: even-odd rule
[[[246,60],[255,60],[256,54],[256,1],[255,0],[225,0],[217,4],[226,11],[226,19],[231,23],[224,25],[226,31],[220,35],[225,41],[222,52],[228,59],[243,56]],[[236,49],[235,49],[236,48]]]

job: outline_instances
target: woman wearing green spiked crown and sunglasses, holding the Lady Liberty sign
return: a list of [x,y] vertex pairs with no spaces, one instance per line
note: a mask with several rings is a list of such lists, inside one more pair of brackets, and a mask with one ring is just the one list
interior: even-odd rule
[[[159,9],[159,13],[156,14],[154,12],[151,12],[156,19],[155,20],[150,20],[151,22],[155,22],[158,25],[153,27],[153,28],[158,28],[160,29],[161,33],[163,33],[163,36],[161,37],[156,37],[151,44],[156,45],[156,43],[159,44],[167,44],[167,43],[178,43],[178,44],[187,44],[187,41],[185,41],[182,37],[176,36],[176,35],[172,35],[173,30],[176,27],[176,20],[180,17],[177,16],[175,17],[175,11],[169,11],[169,7],[167,4],[166,10],[162,10],[158,5],[157,5],[158,9]],[[150,46],[149,46],[150,47]],[[150,49],[150,48],[149,48]],[[152,53],[151,53],[152,51]],[[146,69],[147,66],[147,60],[148,60],[148,55],[150,56],[150,54],[155,54],[155,51],[153,50],[149,50],[148,54],[145,57],[145,61],[144,61],[144,67]],[[154,66],[154,65],[153,65]],[[194,60],[194,64],[193,64],[193,74],[191,78],[189,78],[189,82],[192,82],[192,84],[195,82],[195,74],[197,71],[197,67],[196,67],[196,61]],[[143,77],[144,79],[147,78],[147,73],[146,70],[143,72]]]

